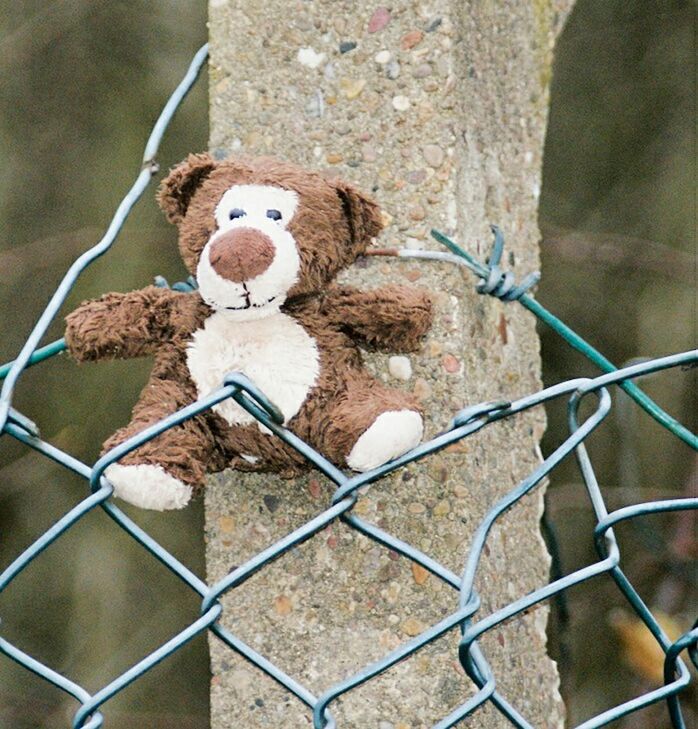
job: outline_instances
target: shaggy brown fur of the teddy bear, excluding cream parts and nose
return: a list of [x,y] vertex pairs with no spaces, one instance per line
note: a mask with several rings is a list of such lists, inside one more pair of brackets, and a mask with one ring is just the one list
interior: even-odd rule
[[[431,323],[430,298],[404,286],[359,291],[330,284],[380,231],[379,209],[351,185],[267,158],[214,162],[205,154],[190,155],[163,182],[160,204],[179,227],[180,251],[192,273],[216,230],[216,204],[234,184],[274,184],[299,195],[289,230],[299,247],[301,272],[282,311],[314,338],[320,374],[288,427],[345,466],[353,445],[382,412],[419,411],[411,395],[385,387],[364,370],[356,343],[415,350]],[[104,451],[196,399],[186,350],[211,313],[197,292],[181,294],[149,286],[106,294],[83,303],[67,317],[66,341],[80,362],[155,356],[131,422],[104,444]],[[249,463],[242,454],[259,461]],[[301,456],[262,433],[256,423],[230,425],[212,411],[166,431],[121,462],[158,464],[197,487],[207,472],[231,465],[284,475],[307,467]]]

